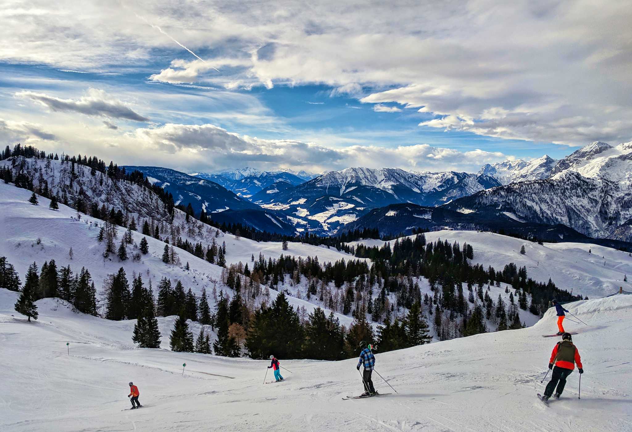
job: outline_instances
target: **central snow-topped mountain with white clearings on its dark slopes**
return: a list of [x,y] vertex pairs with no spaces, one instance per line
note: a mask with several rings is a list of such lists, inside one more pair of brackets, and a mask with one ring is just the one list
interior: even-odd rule
[[437,206],[500,185],[487,175],[454,171],[347,168],[329,171],[295,187],[275,183],[254,195],[252,201],[285,214],[301,231],[332,235],[377,207],[399,202]]

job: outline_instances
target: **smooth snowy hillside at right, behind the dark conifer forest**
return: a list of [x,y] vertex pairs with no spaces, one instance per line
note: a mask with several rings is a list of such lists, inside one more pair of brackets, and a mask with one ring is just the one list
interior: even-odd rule
[[[632,257],[621,250],[584,243],[539,245],[520,238],[480,231],[443,230],[425,233],[425,236],[428,242],[441,238],[450,243],[457,241],[472,245],[472,262],[484,266],[502,269],[509,262],[514,262],[518,267],[526,266],[527,274],[533,280],[546,282],[550,278],[558,288],[569,292],[572,290],[574,295],[587,295],[592,299],[614,293],[619,287],[632,291],[632,285],[623,281],[626,275],[632,275]],[[386,242],[365,239],[350,242],[349,245],[359,243],[382,247]],[[523,245],[525,255],[520,254]]]

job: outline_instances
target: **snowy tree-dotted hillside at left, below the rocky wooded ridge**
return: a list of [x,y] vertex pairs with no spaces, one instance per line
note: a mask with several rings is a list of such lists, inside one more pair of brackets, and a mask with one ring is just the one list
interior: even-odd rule
[[[179,280],[183,283],[185,289],[191,288],[195,295],[200,295],[202,289],[207,290],[209,295],[209,303],[214,307],[215,301],[211,296],[213,288],[216,292],[219,290],[228,290],[229,295],[233,295],[226,285],[222,283],[222,268],[210,264],[204,259],[200,259],[185,250],[176,249],[180,264],[165,264],[162,262],[162,252],[164,242],[152,238],[151,236],[143,236],[138,231],[133,231],[133,240],[135,244],[139,244],[140,240],[145,237],[149,244],[149,254],[140,254],[140,261],[128,259],[119,261],[115,254],[104,258],[104,244],[97,241],[100,226],[104,223],[99,219],[92,218],[82,214],[80,221],[76,220],[76,211],[70,207],[59,205],[58,211],[48,208],[49,199],[39,197],[39,206],[33,206],[28,202],[31,192],[17,188],[10,184],[0,182],[0,256],[6,256],[8,261],[15,266],[20,279],[24,281],[24,275],[28,266],[37,262],[40,268],[44,261],[54,259],[58,268],[68,266],[75,273],[85,267],[90,271],[90,275],[97,287],[97,299],[102,297],[102,287],[107,275],[116,273],[119,268],[123,267],[126,271],[128,279],[131,281],[132,275],[142,274],[143,281],[148,284],[152,281],[154,287],[154,295],[157,294],[157,283],[162,277],[170,278],[172,281]],[[183,221],[183,213],[176,211],[175,223]],[[199,222],[197,222],[199,224]],[[97,226],[98,225],[98,226]],[[298,257],[318,256],[321,263],[329,261],[338,261],[343,257],[346,259],[353,258],[344,252],[337,252],[335,249],[327,249],[307,244],[289,243],[288,250],[283,251],[283,246],[278,242],[255,242],[246,238],[236,238],[232,234],[219,232],[219,237],[215,237],[215,230],[207,227],[209,233],[204,231],[204,235],[187,237],[191,242],[208,242],[214,238],[219,245],[226,242],[226,260],[228,264],[236,262],[250,262],[252,254],[258,259],[259,253],[262,253],[265,259],[277,259],[282,253],[284,255],[294,255]],[[119,239],[125,232],[124,228],[118,228]],[[197,229],[194,230],[197,233]],[[186,230],[183,230],[186,237]],[[119,241],[119,240],[117,240]],[[73,257],[70,257],[70,249],[73,249]],[[128,254],[139,253],[138,249],[134,249],[132,245],[129,247]],[[185,269],[188,262],[190,269]],[[283,285],[281,285],[283,287]],[[301,286],[294,287],[298,290]],[[303,292],[305,292],[305,287]],[[282,288],[279,288],[282,289]],[[276,290],[270,290],[270,297],[274,299],[277,295]],[[256,303],[262,301],[257,299]],[[305,307],[306,311],[312,312],[315,308],[313,303],[307,300],[289,297],[288,301],[293,307]],[[329,309],[323,304],[322,307],[329,314]],[[350,316],[336,314],[341,319],[341,323],[346,326],[352,321]]]

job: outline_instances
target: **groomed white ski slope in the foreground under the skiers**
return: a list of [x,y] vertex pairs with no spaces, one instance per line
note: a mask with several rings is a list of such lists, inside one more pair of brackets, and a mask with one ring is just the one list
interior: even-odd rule
[[[590,324],[569,325],[585,369],[581,400],[574,372],[545,407],[535,395],[556,342],[542,338],[556,329],[552,309],[531,328],[377,354],[398,394],[343,401],[362,392],[355,359],[280,359],[293,373],[264,385],[267,361],[135,349],[132,321],[74,314],[52,299],[27,323],[13,311],[17,295],[0,289],[4,432],[632,430],[632,296],[566,305]],[[123,410],[128,381],[140,410]],[[377,374],[374,383],[390,391]]]

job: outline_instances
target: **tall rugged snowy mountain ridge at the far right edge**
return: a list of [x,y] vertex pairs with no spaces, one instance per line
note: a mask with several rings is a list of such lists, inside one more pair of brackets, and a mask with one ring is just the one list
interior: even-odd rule
[[[590,237],[632,241],[632,142],[592,142],[557,161],[552,176],[510,183],[464,197],[447,207],[491,217],[511,213],[549,225],[563,224]],[[627,225],[626,225],[627,224]]]

